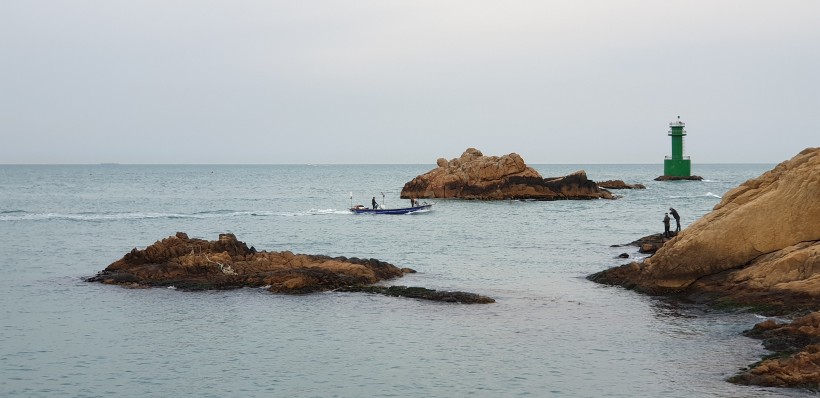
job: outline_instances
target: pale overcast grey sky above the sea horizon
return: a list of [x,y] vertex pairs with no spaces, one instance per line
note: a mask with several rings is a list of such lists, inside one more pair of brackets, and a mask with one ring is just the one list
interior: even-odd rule
[[0,0],[0,164],[820,146],[820,1]]

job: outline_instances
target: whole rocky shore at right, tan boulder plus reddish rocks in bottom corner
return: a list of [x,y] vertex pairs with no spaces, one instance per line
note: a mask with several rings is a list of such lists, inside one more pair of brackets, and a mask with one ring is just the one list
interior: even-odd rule
[[[769,315],[817,311],[818,198],[820,148],[808,148],[727,192],[712,212],[665,242],[652,257],[589,279]],[[820,315],[812,315],[804,321],[811,325],[795,321],[795,330],[815,336],[796,354],[764,361],[733,381],[817,388],[818,319]]]

